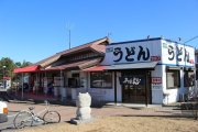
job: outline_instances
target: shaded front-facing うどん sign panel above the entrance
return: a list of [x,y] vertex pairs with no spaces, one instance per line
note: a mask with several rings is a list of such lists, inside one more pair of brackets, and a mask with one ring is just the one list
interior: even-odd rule
[[161,41],[112,44],[106,47],[105,65],[161,61]]

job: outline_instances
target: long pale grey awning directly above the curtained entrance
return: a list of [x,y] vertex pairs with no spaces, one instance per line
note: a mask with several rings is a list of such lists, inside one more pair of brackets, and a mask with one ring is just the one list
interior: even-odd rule
[[148,63],[135,63],[135,64],[118,64],[106,66],[107,70],[118,70],[118,69],[154,69],[157,62],[148,62]]

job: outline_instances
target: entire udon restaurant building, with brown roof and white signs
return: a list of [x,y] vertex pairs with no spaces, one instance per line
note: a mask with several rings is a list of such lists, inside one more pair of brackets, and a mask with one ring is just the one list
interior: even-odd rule
[[105,37],[31,67],[15,73],[31,74],[32,91],[62,100],[89,92],[94,101],[167,105],[194,86],[195,50],[162,37],[120,43]]

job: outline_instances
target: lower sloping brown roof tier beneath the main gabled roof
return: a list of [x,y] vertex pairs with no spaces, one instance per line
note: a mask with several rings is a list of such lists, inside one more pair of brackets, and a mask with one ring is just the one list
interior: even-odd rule
[[61,65],[61,66],[47,67],[44,70],[63,70],[63,69],[69,69],[69,68],[85,69],[85,68],[98,65],[100,63],[100,61],[101,61],[101,58],[87,59],[87,61],[65,64],[65,65]]

